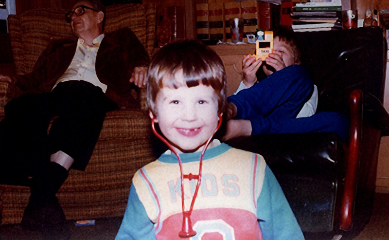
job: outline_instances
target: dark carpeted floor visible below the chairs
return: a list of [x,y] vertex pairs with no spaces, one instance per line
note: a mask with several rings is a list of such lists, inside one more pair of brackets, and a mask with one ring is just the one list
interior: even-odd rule
[[[118,231],[121,218],[96,220],[93,226],[75,226],[68,222],[71,229],[71,240],[113,240]],[[23,230],[18,225],[0,227],[2,240],[40,240],[36,232]],[[307,240],[389,240],[389,194],[377,193],[370,222],[356,237],[313,235]],[[1,240],[1,238],[0,238]]]

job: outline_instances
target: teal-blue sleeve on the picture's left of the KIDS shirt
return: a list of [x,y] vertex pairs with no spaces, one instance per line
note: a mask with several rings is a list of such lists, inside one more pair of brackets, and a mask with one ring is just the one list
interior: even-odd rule
[[132,184],[122,225],[115,240],[156,240],[154,223],[148,218]]

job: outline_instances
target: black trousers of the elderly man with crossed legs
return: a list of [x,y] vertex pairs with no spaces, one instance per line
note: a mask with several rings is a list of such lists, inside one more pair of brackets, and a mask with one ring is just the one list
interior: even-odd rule
[[11,100],[0,122],[0,183],[27,185],[26,178],[59,150],[74,159],[72,168],[85,170],[106,111],[116,107],[86,81],[61,82],[52,92]]

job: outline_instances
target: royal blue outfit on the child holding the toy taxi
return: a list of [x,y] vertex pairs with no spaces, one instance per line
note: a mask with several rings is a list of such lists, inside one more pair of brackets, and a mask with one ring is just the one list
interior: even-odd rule
[[349,121],[341,113],[318,112],[311,117],[296,118],[312,91],[308,71],[300,65],[291,65],[230,96],[228,101],[238,109],[235,119],[250,120],[252,135],[336,132],[347,139]]

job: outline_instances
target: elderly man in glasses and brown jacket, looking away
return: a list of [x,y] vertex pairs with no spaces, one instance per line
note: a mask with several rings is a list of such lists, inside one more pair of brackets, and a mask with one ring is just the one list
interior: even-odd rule
[[130,90],[145,85],[149,57],[131,30],[104,34],[105,17],[99,0],[78,0],[66,14],[78,39],[51,42],[29,74],[0,75],[29,92],[0,122],[0,181],[31,187],[24,227],[65,221],[55,194],[71,168],[88,165],[106,111],[138,107]]

